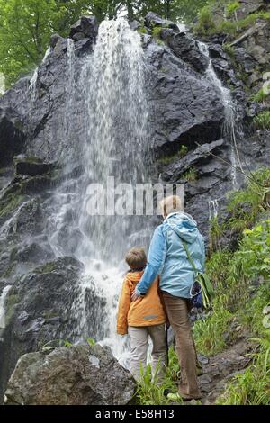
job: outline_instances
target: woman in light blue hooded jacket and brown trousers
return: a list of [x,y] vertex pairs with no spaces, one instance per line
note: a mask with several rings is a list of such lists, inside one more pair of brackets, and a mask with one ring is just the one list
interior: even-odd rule
[[181,366],[179,395],[185,401],[202,397],[196,374],[196,352],[193,344],[188,310],[194,272],[185,249],[188,247],[196,268],[203,271],[205,249],[197,224],[183,212],[177,196],[160,203],[164,221],[154,232],[148,253],[148,265],[142,275],[132,301],[143,297],[160,275],[160,290],[163,295],[168,320],[174,330],[176,352]]

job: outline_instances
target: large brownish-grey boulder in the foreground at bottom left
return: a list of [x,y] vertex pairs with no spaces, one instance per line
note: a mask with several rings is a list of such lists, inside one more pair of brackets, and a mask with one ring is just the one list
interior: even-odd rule
[[80,345],[22,356],[4,404],[126,405],[135,391],[131,374],[109,348]]

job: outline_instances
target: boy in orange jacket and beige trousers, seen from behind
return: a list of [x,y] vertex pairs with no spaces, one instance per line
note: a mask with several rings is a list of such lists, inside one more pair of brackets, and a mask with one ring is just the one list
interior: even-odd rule
[[131,302],[131,294],[139,283],[147,257],[142,247],[131,248],[125,257],[130,270],[122,284],[121,298],[117,316],[117,333],[130,335],[130,373],[138,381],[140,366],[147,365],[148,336],[153,343],[152,374],[156,374],[157,363],[158,379],[165,373],[166,368],[166,316],[158,295],[158,278],[152,284],[147,295]]

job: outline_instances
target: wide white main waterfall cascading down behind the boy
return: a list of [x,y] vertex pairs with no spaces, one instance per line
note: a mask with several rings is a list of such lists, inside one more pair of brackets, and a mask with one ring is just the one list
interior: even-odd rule
[[[72,253],[85,265],[72,311],[77,321],[73,338],[81,340],[92,334],[112,347],[113,354],[123,363],[125,339],[115,333],[125,269],[123,257],[129,247],[148,245],[148,231],[141,229],[149,227],[148,223],[143,224],[149,218],[113,213],[89,215],[87,206],[91,200],[89,184],[99,184],[101,196],[112,195],[112,191],[106,192],[112,177],[115,188],[119,184],[135,187],[148,182],[150,133],[140,36],[130,30],[125,19],[103,21],[94,53],[79,60],[80,75],[76,78],[74,45],[70,40],[66,109],[76,107],[74,95],[68,93],[74,93],[76,84],[81,102],[80,121],[76,123],[83,130],[83,142],[76,146],[81,173],[76,180],[67,178],[55,193],[51,205],[54,212],[49,211],[50,244],[57,255]],[[73,126],[74,122],[67,124],[68,139],[72,139]],[[67,157],[65,166],[70,160],[74,157]],[[114,205],[113,198],[112,202]],[[59,245],[63,230],[68,232],[68,241]],[[74,241],[72,247],[70,239]]]

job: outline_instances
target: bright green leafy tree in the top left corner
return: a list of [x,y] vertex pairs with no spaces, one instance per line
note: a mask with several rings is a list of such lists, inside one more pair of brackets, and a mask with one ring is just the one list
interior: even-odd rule
[[6,85],[40,62],[56,13],[54,0],[0,0],[0,72]]

